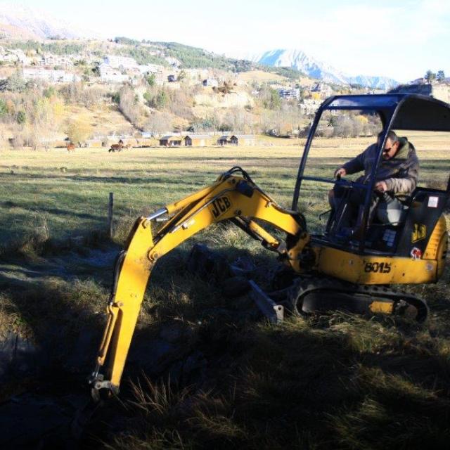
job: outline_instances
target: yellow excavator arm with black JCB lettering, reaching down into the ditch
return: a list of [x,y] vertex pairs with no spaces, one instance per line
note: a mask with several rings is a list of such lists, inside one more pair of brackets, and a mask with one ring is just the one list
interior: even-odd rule
[[[169,219],[153,234],[153,221],[167,215]],[[108,320],[98,349],[96,368],[89,380],[94,399],[98,399],[103,390],[108,393],[119,390],[143,295],[155,263],[195,233],[226,219],[261,240],[269,250],[278,252],[298,271],[298,255],[309,242],[302,214],[278,206],[240,167],[233,167],[221,174],[214,184],[149,217],[139,217],[129,235],[127,250],[120,253],[115,266]],[[285,231],[294,245],[286,248],[253,219]]]

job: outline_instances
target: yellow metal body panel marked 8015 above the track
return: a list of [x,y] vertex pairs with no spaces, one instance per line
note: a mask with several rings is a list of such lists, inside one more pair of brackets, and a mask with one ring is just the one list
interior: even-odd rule
[[329,247],[321,248],[318,269],[357,284],[434,283],[437,279],[436,261],[354,255]]

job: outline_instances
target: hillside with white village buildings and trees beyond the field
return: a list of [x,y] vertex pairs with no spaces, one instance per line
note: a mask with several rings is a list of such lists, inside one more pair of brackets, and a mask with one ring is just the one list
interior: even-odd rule
[[[181,44],[127,38],[0,44],[0,139],[18,147],[68,141],[108,146],[119,139],[130,146],[255,145],[261,134],[306,134],[328,96],[384,92],[326,83],[290,68],[269,70]],[[450,101],[448,79],[429,81],[414,80],[397,91]],[[371,132],[360,125],[348,132]],[[329,124],[324,135],[336,133],[342,130]]]

